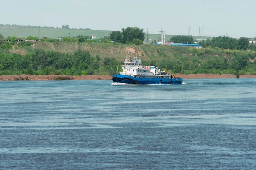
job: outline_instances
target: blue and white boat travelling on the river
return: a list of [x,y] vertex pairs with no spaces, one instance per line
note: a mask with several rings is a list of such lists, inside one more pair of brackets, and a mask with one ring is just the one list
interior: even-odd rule
[[161,71],[156,66],[142,66],[141,59],[124,60],[124,65],[121,65],[123,71],[119,74],[114,74],[113,82],[125,84],[181,84],[180,76],[171,75],[165,71]]

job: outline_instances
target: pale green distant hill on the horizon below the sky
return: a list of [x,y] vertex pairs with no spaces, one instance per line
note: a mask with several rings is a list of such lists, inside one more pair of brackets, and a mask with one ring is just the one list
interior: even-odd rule
[[[15,36],[18,38],[26,38],[28,36],[38,36],[39,26],[24,26],[24,25],[2,25],[0,24],[0,33],[4,37]],[[78,36],[78,35],[92,35],[95,34],[96,38],[101,38],[104,36],[109,36],[109,33],[112,31],[106,30],[92,30],[92,29],[67,29],[67,28],[48,28],[40,27],[40,37],[56,38],[56,37],[68,37],[69,35]],[[69,34],[68,34],[69,33]],[[174,35],[166,35],[166,41]],[[146,35],[145,35],[146,37]],[[195,41],[199,39],[207,39],[212,37],[206,36],[193,36]],[[161,35],[159,34],[149,34],[149,39],[160,41]]]

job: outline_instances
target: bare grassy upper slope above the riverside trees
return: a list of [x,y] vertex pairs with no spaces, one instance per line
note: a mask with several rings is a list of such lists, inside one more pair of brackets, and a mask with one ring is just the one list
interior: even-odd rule
[[153,46],[153,45],[127,45],[119,43],[102,43],[102,42],[35,42],[29,47],[9,49],[8,53],[18,53],[25,55],[31,51],[42,49],[45,51],[57,51],[62,53],[74,53],[76,51],[87,50],[91,55],[99,55],[100,58],[116,58],[123,61],[128,52],[131,52],[132,57],[141,55],[143,60],[166,60],[171,58],[188,57],[191,58],[208,58],[208,57],[225,57],[232,59],[234,54],[246,53],[252,57],[256,57],[255,52],[241,50],[221,50],[208,48],[189,48],[189,47],[174,47],[174,46]]

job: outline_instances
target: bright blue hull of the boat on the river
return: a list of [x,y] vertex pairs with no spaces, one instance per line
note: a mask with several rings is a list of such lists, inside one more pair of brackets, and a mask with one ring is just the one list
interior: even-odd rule
[[[142,76],[140,76],[142,77]],[[163,76],[160,76],[163,77]],[[167,79],[167,78],[154,78],[154,76],[150,78],[138,78],[132,77],[128,75],[115,74],[113,76],[113,82],[117,83],[125,83],[125,84],[181,84],[182,78],[176,79]]]

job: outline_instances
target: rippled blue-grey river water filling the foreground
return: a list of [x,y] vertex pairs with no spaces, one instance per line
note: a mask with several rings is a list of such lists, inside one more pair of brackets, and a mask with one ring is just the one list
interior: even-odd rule
[[0,89],[0,169],[256,169],[256,79]]

